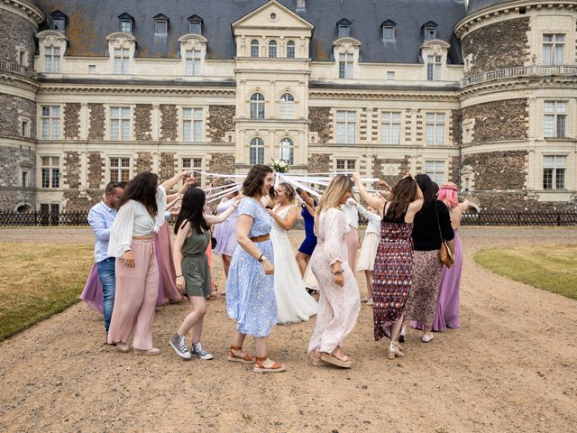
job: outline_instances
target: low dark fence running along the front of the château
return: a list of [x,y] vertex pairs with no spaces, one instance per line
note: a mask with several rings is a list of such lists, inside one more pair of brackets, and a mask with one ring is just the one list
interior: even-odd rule
[[[87,211],[0,212],[0,226],[88,226]],[[174,224],[176,218],[170,218]],[[367,221],[359,216],[359,223]],[[511,212],[488,211],[463,214],[462,226],[577,226],[576,211]],[[298,220],[298,228],[304,228]]]

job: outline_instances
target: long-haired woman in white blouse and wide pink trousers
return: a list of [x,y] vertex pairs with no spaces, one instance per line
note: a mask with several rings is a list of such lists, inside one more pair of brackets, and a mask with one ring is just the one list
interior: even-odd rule
[[129,181],[118,203],[108,255],[116,257],[116,296],[108,343],[128,352],[134,330],[135,354],[158,355],[152,346],[152,322],[159,290],[154,235],[164,224],[166,190],[188,175],[185,171],[158,186],[158,176],[145,171]]

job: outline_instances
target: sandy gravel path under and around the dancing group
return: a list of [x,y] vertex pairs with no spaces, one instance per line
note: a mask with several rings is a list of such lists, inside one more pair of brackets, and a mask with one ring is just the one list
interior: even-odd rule
[[[463,327],[428,345],[409,331],[402,359],[387,360],[385,345],[373,341],[366,305],[345,341],[350,371],[310,365],[313,319],[273,330],[270,355],[289,371],[258,375],[226,362],[234,325],[221,299],[209,304],[203,337],[215,360],[191,362],[168,346],[188,302],[157,310],[155,357],[104,345],[99,316],[78,303],[0,345],[0,430],[577,431],[577,302],[472,261],[495,245],[577,243],[577,229],[463,227],[461,235]],[[296,243],[302,232],[291,236]],[[0,241],[84,244],[92,235],[0,229]]]

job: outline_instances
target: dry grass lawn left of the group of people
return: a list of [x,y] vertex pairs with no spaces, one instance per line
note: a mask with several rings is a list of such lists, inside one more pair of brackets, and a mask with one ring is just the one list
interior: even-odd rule
[[0,243],[0,341],[78,301],[93,247]]

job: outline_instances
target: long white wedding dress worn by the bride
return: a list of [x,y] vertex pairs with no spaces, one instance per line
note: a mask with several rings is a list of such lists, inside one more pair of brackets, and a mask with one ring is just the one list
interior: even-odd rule
[[[288,212],[289,207],[282,209],[278,215],[286,219]],[[274,250],[274,293],[277,298],[279,323],[306,321],[316,315],[318,306],[316,300],[307,293],[287,231],[274,219],[270,240]]]

